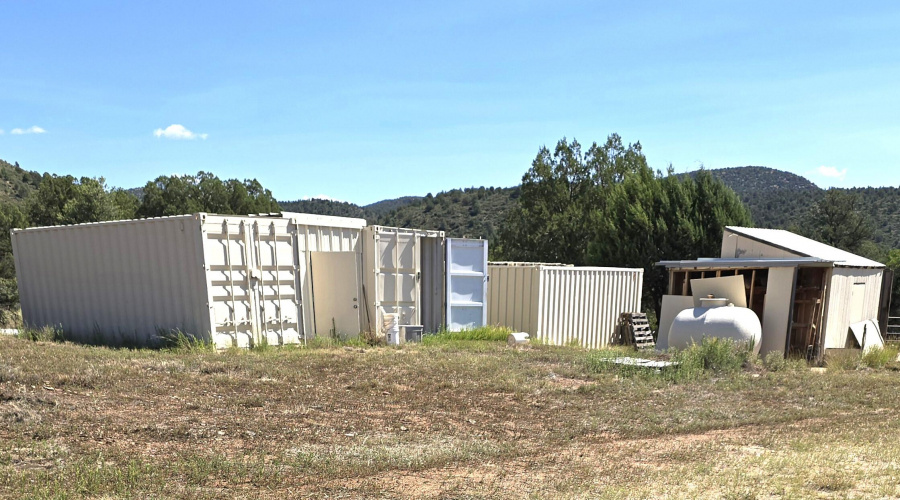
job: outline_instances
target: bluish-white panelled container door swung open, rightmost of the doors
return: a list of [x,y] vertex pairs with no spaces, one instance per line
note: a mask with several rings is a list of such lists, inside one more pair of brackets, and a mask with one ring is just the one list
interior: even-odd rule
[[487,240],[447,238],[447,329],[487,324]]

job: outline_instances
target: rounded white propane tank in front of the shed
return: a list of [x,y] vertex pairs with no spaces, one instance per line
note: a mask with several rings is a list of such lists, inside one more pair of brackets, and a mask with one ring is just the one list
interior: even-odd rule
[[753,351],[759,354],[762,341],[762,325],[759,317],[746,307],[725,305],[725,299],[700,299],[706,307],[685,309],[675,316],[669,329],[669,347],[685,349],[692,343],[699,344],[703,337],[732,339],[737,342],[753,342]]

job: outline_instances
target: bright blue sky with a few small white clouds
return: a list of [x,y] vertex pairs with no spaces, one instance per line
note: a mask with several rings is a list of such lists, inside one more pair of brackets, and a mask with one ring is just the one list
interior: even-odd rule
[[115,186],[365,204],[612,132],[660,169],[900,184],[897,2],[6,0],[0,26],[0,158]]

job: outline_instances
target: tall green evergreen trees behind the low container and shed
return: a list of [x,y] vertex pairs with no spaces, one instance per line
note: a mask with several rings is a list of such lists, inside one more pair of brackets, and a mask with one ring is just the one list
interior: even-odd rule
[[610,135],[587,151],[578,141],[541,148],[496,243],[505,260],[644,269],[643,303],[658,313],[661,260],[719,255],[725,226],[751,224],[725,184],[654,171],[640,143]]

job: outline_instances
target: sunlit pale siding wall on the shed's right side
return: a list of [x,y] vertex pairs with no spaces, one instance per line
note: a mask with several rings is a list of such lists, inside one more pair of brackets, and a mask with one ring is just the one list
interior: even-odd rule
[[[881,299],[881,269],[856,269],[837,267],[829,283],[825,319],[825,348],[842,349],[847,345],[850,328],[850,297],[853,285],[865,284],[863,320],[878,319]],[[883,325],[881,325],[884,328]]]

